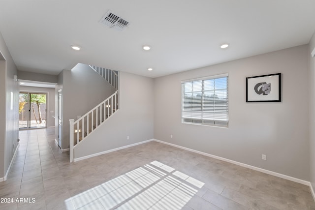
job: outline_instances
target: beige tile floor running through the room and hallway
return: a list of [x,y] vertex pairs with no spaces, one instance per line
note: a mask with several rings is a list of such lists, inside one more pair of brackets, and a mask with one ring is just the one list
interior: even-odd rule
[[0,210],[315,210],[308,186],[157,142],[69,163],[50,128],[20,131],[0,198],[13,199]]

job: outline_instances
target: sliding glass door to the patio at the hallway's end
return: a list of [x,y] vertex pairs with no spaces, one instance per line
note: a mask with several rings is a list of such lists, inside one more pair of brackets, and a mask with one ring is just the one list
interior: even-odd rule
[[47,93],[20,92],[19,128],[47,127]]

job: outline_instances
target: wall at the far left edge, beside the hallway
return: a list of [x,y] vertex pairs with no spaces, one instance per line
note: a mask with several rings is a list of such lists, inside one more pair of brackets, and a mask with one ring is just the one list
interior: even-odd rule
[[[17,68],[0,33],[0,179],[6,176],[19,136],[19,82]],[[4,61],[5,60],[5,61]],[[4,119],[4,121],[3,121]]]

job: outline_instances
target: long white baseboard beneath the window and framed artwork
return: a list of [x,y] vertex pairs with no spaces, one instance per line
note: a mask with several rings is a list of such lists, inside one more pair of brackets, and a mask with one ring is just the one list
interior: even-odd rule
[[[241,162],[237,162],[237,161],[234,161],[234,160],[230,160],[230,159],[227,159],[227,158],[224,158],[224,157],[216,156],[216,155],[213,155],[213,154],[208,154],[208,153],[205,153],[205,152],[202,152],[202,151],[198,151],[198,150],[192,150],[192,149],[189,149],[189,148],[186,148],[186,147],[182,147],[182,146],[179,146],[179,145],[175,145],[175,144],[171,144],[171,143],[168,143],[168,142],[163,142],[163,141],[160,141],[158,139],[154,139],[154,141],[162,143],[162,144],[166,144],[166,145],[169,145],[169,146],[177,147],[177,148],[180,148],[180,149],[183,149],[183,150],[188,150],[188,151],[191,151],[191,152],[202,154],[202,155],[205,155],[205,156],[208,156],[208,157],[212,157],[212,158],[215,158],[215,159],[218,159],[218,160],[222,160],[222,161],[225,161],[225,162],[233,163],[235,165],[243,166],[245,168],[249,168],[249,169],[252,169],[252,170],[255,170],[255,171],[259,171],[259,172],[262,172],[262,173],[265,173],[265,174],[269,174],[269,175],[272,175],[272,176],[275,176],[275,177],[283,178],[285,180],[290,180],[290,181],[294,181],[294,182],[297,182],[297,183],[300,183],[300,184],[311,186],[311,182],[310,181],[300,180],[300,179],[297,179],[297,178],[294,178],[294,177],[290,177],[290,176],[287,176],[287,175],[284,175],[284,174],[279,174],[277,172],[273,172],[273,171],[269,171],[269,170],[266,170],[266,169],[258,168],[258,167],[251,166],[251,165],[248,165],[248,164],[245,164],[245,163],[241,163]],[[313,193],[314,193],[314,191],[313,191]]]

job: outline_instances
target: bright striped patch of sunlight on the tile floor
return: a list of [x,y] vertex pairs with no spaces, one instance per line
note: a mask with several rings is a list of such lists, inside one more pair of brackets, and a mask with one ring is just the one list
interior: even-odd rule
[[182,209],[204,185],[158,161],[136,168],[67,200],[67,209]]

